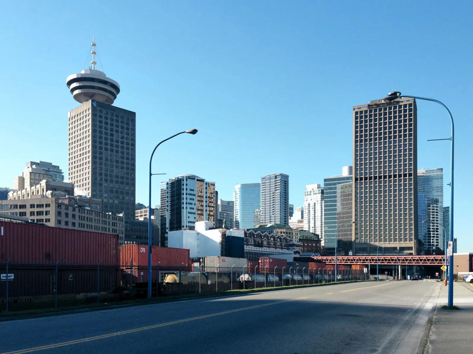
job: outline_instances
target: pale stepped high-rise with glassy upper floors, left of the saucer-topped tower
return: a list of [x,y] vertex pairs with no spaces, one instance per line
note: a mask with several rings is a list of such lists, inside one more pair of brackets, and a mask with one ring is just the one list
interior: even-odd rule
[[21,190],[39,184],[42,180],[63,182],[64,174],[59,166],[45,161],[26,162],[26,169],[15,177],[13,181],[14,189]]

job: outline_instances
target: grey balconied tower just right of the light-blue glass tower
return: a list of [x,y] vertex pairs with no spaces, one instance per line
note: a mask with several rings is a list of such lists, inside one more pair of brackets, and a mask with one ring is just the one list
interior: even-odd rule
[[261,223],[289,224],[289,176],[275,173],[261,177]]

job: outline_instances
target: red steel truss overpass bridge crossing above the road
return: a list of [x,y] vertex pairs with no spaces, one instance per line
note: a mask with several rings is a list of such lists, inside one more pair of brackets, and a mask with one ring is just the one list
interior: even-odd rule
[[[335,264],[335,256],[312,257],[315,262]],[[337,264],[389,264],[389,265],[438,265],[445,262],[445,256],[337,256]],[[448,257],[447,257],[448,264]]]

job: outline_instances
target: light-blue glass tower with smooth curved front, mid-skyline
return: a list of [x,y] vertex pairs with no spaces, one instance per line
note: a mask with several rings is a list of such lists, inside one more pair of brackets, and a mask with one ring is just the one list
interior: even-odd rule
[[259,214],[261,201],[261,185],[259,183],[244,183],[235,185],[233,191],[234,202],[234,227],[253,228],[255,211],[258,211],[258,220],[261,223]]

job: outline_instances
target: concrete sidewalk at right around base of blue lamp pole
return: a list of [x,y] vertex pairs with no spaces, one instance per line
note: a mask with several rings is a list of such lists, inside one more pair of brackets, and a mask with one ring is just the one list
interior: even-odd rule
[[473,287],[453,284],[453,304],[460,310],[442,310],[447,299],[448,287],[442,285],[424,354],[473,353]]

